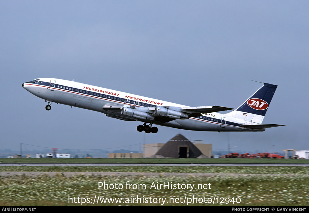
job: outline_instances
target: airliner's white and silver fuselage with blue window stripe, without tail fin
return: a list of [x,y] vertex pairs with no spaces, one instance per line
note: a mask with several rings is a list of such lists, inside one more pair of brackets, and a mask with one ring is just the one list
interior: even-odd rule
[[[126,121],[141,121],[144,123],[157,124],[172,128],[216,131],[216,132],[242,132],[242,131],[264,131],[261,129],[243,128],[239,125],[254,124],[249,121],[232,117],[228,114],[218,112],[201,114],[202,116],[190,117],[188,119],[176,120],[143,120],[122,115],[121,111],[104,109],[104,106],[130,106],[135,109],[153,109],[159,107],[187,107],[184,105],[166,102],[154,98],[147,98],[130,93],[120,92],[112,89],[87,85],[69,80],[54,78],[40,78],[23,84],[23,88],[46,102],[65,104],[71,107],[79,107],[106,114],[106,116]],[[46,106],[47,107],[47,106]],[[145,108],[146,107],[146,108]],[[49,109],[47,109],[49,110]]]

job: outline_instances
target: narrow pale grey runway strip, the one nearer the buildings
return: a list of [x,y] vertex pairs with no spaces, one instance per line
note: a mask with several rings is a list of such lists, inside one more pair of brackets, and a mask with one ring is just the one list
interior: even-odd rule
[[309,163],[0,163],[0,166],[298,166]]

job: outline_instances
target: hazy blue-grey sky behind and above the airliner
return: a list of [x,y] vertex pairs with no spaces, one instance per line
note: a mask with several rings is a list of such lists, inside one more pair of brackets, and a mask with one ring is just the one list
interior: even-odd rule
[[[19,150],[20,142],[63,149],[143,142],[145,133],[136,130],[141,122],[55,103],[46,111],[46,102],[21,86],[53,77],[187,106],[232,108],[261,86],[251,80],[276,84],[263,123],[288,126],[229,133],[231,147],[309,150],[308,6],[308,1],[0,1],[0,149]],[[227,133],[158,128],[146,134],[146,143],[181,133],[212,143],[214,150],[227,147]]]

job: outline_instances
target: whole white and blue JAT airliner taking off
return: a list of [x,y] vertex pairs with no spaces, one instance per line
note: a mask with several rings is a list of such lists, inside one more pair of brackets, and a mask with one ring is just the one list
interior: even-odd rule
[[[265,131],[265,128],[284,126],[262,124],[277,85],[264,85],[236,110],[226,114],[228,107],[188,107],[153,98],[146,98],[112,89],[56,78],[40,78],[23,84],[23,88],[51,103],[98,111],[111,118],[141,121],[139,132],[157,133],[153,124],[179,129],[217,132]],[[148,125],[149,124],[149,125]]]

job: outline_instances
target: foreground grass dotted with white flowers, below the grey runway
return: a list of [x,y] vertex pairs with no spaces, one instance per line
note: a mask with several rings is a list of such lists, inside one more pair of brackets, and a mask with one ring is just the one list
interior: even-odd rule
[[[131,198],[166,198],[163,206],[308,206],[309,167],[250,167],[250,166],[57,166],[0,167],[0,172],[19,172],[0,176],[1,206],[81,206],[68,203],[70,198],[89,198],[83,206],[161,206],[160,203],[132,203]],[[27,176],[23,172],[59,172],[56,176]],[[93,172],[90,176],[65,176],[63,172]],[[160,172],[160,176],[100,176],[95,172]],[[214,177],[164,176],[164,172],[218,173]],[[224,173],[234,173],[230,175]],[[246,175],[243,175],[246,174]],[[250,175],[252,174],[252,175]],[[255,174],[255,175],[253,175]],[[260,174],[260,175],[256,175]],[[123,184],[123,189],[98,189],[98,182]],[[125,183],[145,184],[146,189],[125,189]],[[156,184],[211,184],[211,189],[150,189]],[[200,198],[203,203],[176,203],[175,198]],[[100,196],[98,204],[93,200]],[[210,199],[214,201],[210,203]],[[122,198],[121,203],[108,203],[106,198]],[[171,198],[171,200],[170,200]],[[174,203],[172,202],[174,198]],[[208,199],[209,198],[209,199]],[[227,203],[237,198],[239,203]],[[81,201],[81,200],[79,200]],[[97,200],[96,200],[97,201]],[[119,200],[118,200],[119,201]],[[170,203],[170,201],[172,203]],[[206,203],[205,203],[206,201]],[[76,199],[77,202],[77,199]],[[126,203],[127,202],[127,203]],[[146,200],[145,200],[146,202]],[[167,203],[168,202],[168,203]],[[178,201],[179,202],[179,201]],[[182,200],[183,202],[183,200]]]

